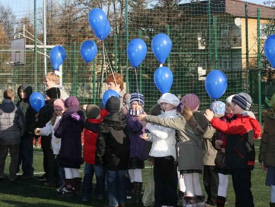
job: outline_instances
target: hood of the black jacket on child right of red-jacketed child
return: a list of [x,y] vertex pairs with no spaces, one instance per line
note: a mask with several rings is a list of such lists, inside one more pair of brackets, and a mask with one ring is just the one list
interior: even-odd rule
[[114,128],[116,131],[126,128],[126,119],[123,112],[110,113],[103,119],[102,125]]

